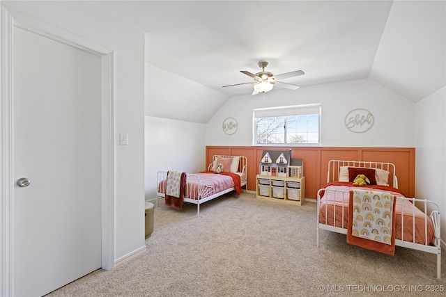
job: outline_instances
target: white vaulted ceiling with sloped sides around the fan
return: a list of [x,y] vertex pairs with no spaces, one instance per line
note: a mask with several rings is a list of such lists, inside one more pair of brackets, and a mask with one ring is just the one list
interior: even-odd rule
[[305,75],[284,80],[302,87],[373,79],[413,102],[446,84],[445,1],[95,5],[144,31],[150,110],[162,107],[161,100],[180,104],[183,113],[184,102],[192,102],[213,114],[229,97],[252,93],[251,84],[222,86],[252,81],[240,70],[259,72],[259,61],[268,61],[266,71],[274,74],[303,70]]

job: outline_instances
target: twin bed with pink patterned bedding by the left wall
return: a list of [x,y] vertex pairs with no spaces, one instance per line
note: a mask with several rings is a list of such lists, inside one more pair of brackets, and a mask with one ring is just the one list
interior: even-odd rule
[[[222,172],[218,165],[222,164]],[[168,185],[168,171],[157,173],[157,198],[169,201],[166,195]],[[231,191],[240,193],[243,186],[247,186],[247,158],[246,156],[213,156],[213,162],[208,170],[199,173],[184,173],[182,191],[183,202],[197,204],[197,214],[200,214],[200,204],[213,200]],[[169,191],[168,191],[169,193]],[[176,202],[177,198],[170,201]],[[178,207],[176,207],[178,208]]]

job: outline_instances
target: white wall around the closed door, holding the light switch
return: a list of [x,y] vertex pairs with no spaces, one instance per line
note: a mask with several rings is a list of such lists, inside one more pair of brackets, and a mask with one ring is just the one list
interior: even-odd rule
[[144,248],[144,33],[87,1],[2,4],[114,51],[116,135],[129,140],[115,147],[115,259]]

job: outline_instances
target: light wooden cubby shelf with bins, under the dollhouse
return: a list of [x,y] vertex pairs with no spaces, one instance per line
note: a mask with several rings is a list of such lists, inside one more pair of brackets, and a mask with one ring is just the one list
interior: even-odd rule
[[302,205],[305,200],[305,177],[256,175],[256,196]]

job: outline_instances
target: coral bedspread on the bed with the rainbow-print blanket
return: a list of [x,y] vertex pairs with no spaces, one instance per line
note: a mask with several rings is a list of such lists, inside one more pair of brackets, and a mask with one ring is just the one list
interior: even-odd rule
[[[350,182],[330,182],[324,187],[330,191],[321,193],[321,204],[319,207],[319,223],[325,225],[334,225],[347,229],[348,227],[348,200],[350,198],[349,191],[355,190],[357,186],[352,186]],[[360,186],[360,188],[371,188],[375,191],[383,191],[391,193],[398,197],[404,197],[397,188],[391,186]],[[335,192],[337,191],[337,192]],[[343,207],[344,206],[344,207]],[[344,211],[343,211],[344,209]],[[424,232],[424,222],[426,216],[420,209],[413,207],[408,200],[397,199],[395,205],[395,237],[404,241],[413,242],[413,212],[415,212],[415,243],[425,244],[426,236]],[[402,215],[403,214],[403,215]],[[403,221],[403,228],[401,222]],[[333,223],[334,222],[334,223]],[[435,232],[432,222],[429,218],[426,220],[427,225],[427,243],[435,242]],[[403,237],[401,236],[403,229]]]

